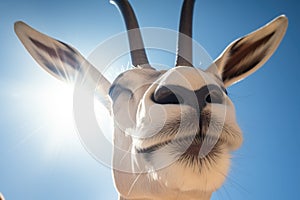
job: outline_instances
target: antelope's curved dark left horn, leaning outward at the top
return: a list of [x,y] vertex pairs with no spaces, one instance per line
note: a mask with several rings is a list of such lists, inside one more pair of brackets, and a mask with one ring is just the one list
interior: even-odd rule
[[127,28],[130,55],[133,66],[140,68],[152,68],[149,65],[146,55],[138,21],[128,0],[110,0],[110,3],[116,5],[123,15]]

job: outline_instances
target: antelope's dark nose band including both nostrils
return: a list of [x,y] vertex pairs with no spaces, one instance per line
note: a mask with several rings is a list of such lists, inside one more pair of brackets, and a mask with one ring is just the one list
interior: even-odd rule
[[197,90],[167,85],[158,86],[152,100],[157,104],[187,104],[201,109],[207,104],[222,104],[224,94],[217,85],[206,85]]

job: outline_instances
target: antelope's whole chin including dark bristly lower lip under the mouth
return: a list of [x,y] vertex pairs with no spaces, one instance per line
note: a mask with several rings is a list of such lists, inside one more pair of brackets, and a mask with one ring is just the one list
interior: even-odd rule
[[203,139],[198,130],[193,138],[173,139],[163,146],[145,149],[142,157],[148,169],[149,182],[159,182],[168,191],[216,191],[230,168],[231,144],[239,140],[228,136],[226,129],[240,133],[238,127],[227,124],[224,127],[216,140],[211,136]]

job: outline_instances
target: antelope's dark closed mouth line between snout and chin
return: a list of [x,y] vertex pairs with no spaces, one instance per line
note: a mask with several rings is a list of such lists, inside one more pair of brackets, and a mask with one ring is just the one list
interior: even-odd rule
[[147,148],[139,148],[136,149],[136,152],[150,154],[155,151],[162,150],[164,147],[170,146],[171,148],[176,149],[176,151],[180,153],[181,156],[195,157],[199,156],[201,147],[207,148],[206,146],[210,146],[211,150],[213,150],[213,148],[216,144],[219,143],[219,141],[219,138],[197,133],[196,135],[174,138],[162,143],[157,143]]

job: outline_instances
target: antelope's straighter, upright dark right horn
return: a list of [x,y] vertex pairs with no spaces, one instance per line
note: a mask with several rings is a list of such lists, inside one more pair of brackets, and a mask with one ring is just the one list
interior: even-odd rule
[[193,11],[195,0],[185,0],[181,9],[176,66],[193,67]]

